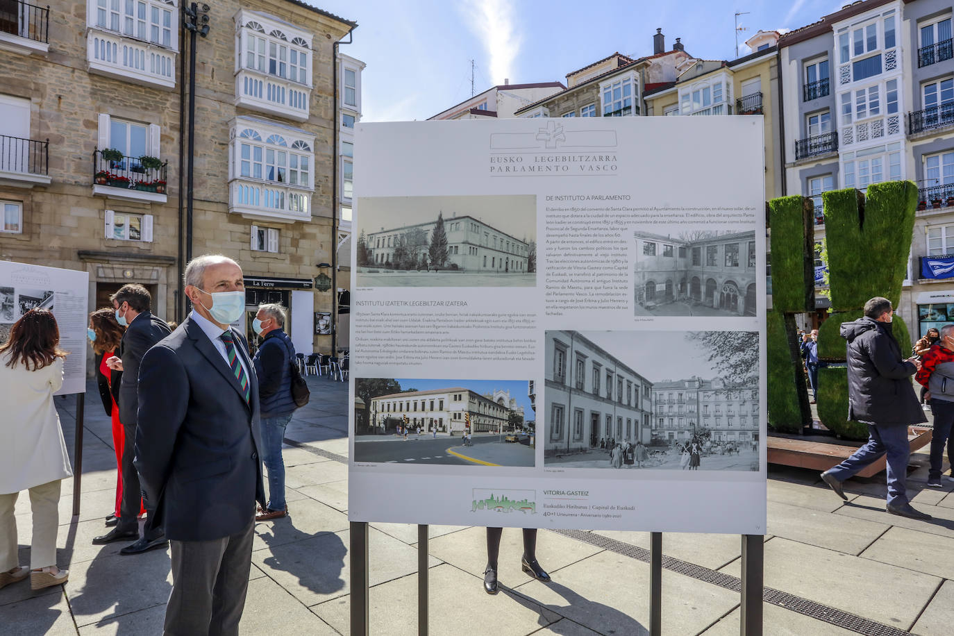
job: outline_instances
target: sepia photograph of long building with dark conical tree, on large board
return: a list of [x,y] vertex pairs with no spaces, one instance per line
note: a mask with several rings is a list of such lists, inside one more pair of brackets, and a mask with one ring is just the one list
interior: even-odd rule
[[533,287],[536,196],[359,200],[362,287]]

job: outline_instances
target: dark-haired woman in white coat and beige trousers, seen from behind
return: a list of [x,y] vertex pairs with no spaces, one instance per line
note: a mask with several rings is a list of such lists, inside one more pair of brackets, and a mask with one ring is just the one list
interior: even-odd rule
[[[30,575],[32,589],[66,583],[68,570],[56,566],[60,481],[73,475],[53,393],[63,385],[59,328],[46,309],[31,309],[13,324],[0,344],[0,587]],[[33,540],[30,567],[17,561],[13,506],[30,491]]]

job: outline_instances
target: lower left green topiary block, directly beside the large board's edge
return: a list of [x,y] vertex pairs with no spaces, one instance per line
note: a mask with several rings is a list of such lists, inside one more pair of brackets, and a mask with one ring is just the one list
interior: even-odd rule
[[791,337],[785,332],[785,318],[776,311],[769,312],[766,333],[768,334],[769,428],[783,433],[798,433],[805,421],[798,400],[798,383],[800,382],[803,387],[805,381],[800,362],[792,359],[789,348]]

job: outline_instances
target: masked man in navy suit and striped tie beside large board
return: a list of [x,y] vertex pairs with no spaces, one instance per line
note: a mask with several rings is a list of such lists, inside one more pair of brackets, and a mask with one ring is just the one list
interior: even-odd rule
[[252,564],[259,386],[248,344],[241,268],[225,256],[186,267],[193,311],[139,368],[136,466],[171,542],[166,636],[237,634]]

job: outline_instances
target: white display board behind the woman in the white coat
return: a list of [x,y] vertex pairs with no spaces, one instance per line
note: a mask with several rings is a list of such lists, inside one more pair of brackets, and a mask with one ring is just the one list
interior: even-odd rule
[[0,341],[10,327],[34,307],[52,311],[59,326],[61,349],[68,351],[63,364],[63,388],[56,395],[86,392],[87,297],[90,275],[0,260]]

